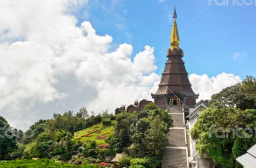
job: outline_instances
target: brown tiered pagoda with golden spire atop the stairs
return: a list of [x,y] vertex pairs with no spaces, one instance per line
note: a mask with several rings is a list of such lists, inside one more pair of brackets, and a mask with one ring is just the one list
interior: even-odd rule
[[168,106],[195,106],[199,94],[195,94],[188,79],[188,73],[182,57],[183,50],[179,48],[180,39],[176,23],[177,13],[174,9],[173,27],[170,45],[167,50],[164,71],[156,94],[151,94],[157,106],[166,109]]

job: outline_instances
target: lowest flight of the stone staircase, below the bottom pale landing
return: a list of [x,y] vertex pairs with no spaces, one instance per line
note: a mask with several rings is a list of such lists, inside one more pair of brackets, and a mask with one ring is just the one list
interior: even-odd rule
[[162,167],[187,168],[186,150],[165,148]]

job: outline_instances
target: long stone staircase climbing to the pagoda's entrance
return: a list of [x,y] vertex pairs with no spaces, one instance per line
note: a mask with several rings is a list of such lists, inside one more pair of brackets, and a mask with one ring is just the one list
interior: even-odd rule
[[168,108],[172,114],[173,126],[168,134],[168,145],[164,149],[163,168],[187,168],[188,148],[182,108]]

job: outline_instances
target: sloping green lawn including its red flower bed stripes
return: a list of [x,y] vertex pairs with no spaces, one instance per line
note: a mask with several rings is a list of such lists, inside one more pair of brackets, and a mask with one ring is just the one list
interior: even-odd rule
[[[81,142],[86,141],[96,141],[96,144],[107,144],[105,143],[105,139],[108,138],[113,133],[115,125],[115,121],[112,122],[111,125],[102,125],[102,123],[98,125],[93,125],[88,129],[83,129],[74,133],[74,139],[79,140]],[[83,137],[86,136],[86,137]],[[97,137],[102,136],[102,139],[97,139]],[[80,138],[81,137],[81,138]]]

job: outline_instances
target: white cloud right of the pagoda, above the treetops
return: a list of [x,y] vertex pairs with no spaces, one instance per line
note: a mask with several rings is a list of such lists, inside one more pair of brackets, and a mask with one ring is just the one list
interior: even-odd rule
[[212,94],[220,92],[223,88],[230,87],[241,82],[241,78],[234,74],[221,73],[209,78],[207,74],[190,74],[189,81],[196,94],[200,94],[199,99],[211,99]]

